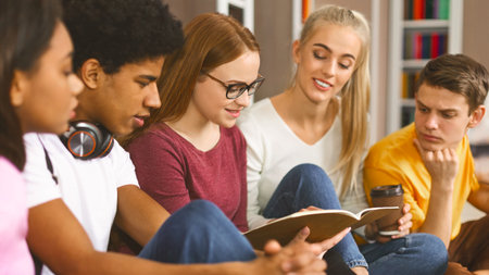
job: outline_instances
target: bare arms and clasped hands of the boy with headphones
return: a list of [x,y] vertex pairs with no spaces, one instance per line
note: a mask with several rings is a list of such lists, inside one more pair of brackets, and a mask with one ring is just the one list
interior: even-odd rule
[[[139,202],[122,207],[117,217],[120,225],[128,229],[129,235],[139,236],[140,243],[148,242],[151,233],[158,228],[167,213],[137,187],[122,187],[122,200],[138,198]],[[151,210],[129,221],[135,211],[126,207]],[[160,210],[159,210],[160,208]],[[163,215],[156,218],[158,215]],[[134,217],[133,217],[134,218]],[[143,218],[151,221],[146,228]],[[163,264],[136,257],[98,252],[82,225],[61,199],[55,199],[29,210],[29,232],[27,242],[32,251],[55,274],[324,274],[326,264],[316,259],[315,252],[321,248],[306,243],[305,237],[286,248],[276,241],[265,247],[266,257],[251,262],[229,262],[223,264]],[[138,234],[140,230],[140,234]],[[251,272],[251,273],[250,273]]]

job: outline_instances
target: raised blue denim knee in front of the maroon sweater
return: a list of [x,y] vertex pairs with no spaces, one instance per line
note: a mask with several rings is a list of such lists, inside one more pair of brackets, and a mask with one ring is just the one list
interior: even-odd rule
[[244,262],[256,258],[229,218],[204,200],[195,200],[171,215],[138,257],[164,263]]

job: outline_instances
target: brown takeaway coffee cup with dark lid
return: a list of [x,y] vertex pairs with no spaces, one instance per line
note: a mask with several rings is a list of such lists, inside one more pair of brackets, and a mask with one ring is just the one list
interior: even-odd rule
[[377,220],[378,234],[381,236],[398,235],[399,218],[402,217],[402,208],[404,205],[401,185],[384,185],[374,187],[371,190],[372,204],[378,207],[399,207],[399,211],[394,211]]

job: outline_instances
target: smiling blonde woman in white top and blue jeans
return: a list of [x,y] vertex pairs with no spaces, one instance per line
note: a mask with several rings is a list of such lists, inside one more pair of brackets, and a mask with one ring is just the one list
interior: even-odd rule
[[[361,13],[337,5],[314,11],[292,45],[297,71],[290,87],[238,120],[248,143],[251,228],[302,209],[356,213],[368,207],[362,163],[368,149],[369,42]],[[392,238],[376,238],[368,225],[375,242],[359,249],[349,234],[334,251],[355,274],[438,274],[446,261],[440,242],[409,235],[412,215],[409,207],[403,212]]]

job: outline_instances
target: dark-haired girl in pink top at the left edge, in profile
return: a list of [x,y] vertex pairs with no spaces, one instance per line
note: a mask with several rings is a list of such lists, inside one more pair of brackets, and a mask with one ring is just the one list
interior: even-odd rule
[[0,1],[0,274],[34,274],[23,134],[63,133],[82,83],[57,0]]

